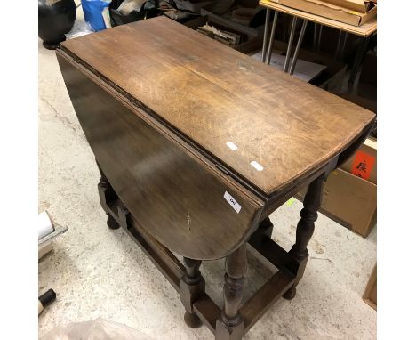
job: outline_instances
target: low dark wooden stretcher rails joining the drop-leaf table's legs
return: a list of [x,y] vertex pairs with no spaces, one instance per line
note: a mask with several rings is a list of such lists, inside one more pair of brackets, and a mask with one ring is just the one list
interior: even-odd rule
[[[109,184],[109,183],[108,183]],[[121,226],[139,247],[148,255],[148,258],[156,265],[157,269],[171,283],[172,287],[180,293],[181,298],[187,300],[188,285],[184,281],[186,269],[172,252],[154,239],[138,223],[125,208],[123,202],[109,185],[99,184],[101,206],[110,216],[112,226]],[[114,219],[113,220],[111,220]],[[272,228],[272,225],[268,225]],[[255,231],[248,244],[257,250],[260,255],[273,264],[279,271],[260,287],[255,295],[239,307],[239,312],[244,320],[243,335],[249,331],[260,317],[267,312],[276,300],[284,295],[303,274],[305,265],[296,261],[284,248],[276,244],[269,235],[271,229],[259,228]],[[306,264],[306,263],[305,263]],[[216,334],[217,320],[220,320],[221,307],[212,301],[212,298],[204,291],[198,292],[193,297],[192,312],[195,312],[213,334]]]

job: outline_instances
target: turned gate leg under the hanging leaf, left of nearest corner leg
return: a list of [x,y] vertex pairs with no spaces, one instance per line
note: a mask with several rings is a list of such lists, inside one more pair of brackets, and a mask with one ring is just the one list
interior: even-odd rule
[[180,279],[180,301],[185,307],[183,319],[188,327],[197,328],[202,325],[202,322],[193,311],[193,304],[205,290],[205,281],[199,271],[202,262],[188,257],[184,257],[183,262],[185,274]]

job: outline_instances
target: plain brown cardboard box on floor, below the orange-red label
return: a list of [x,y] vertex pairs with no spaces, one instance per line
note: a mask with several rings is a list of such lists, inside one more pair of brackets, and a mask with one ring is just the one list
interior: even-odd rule
[[[303,200],[307,188],[295,197]],[[377,185],[337,169],[324,183],[321,213],[367,237],[377,221]]]

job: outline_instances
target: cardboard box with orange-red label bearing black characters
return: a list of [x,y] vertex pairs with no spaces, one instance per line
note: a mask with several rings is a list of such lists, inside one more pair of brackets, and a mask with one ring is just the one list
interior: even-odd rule
[[377,141],[367,138],[340,169],[377,184]]

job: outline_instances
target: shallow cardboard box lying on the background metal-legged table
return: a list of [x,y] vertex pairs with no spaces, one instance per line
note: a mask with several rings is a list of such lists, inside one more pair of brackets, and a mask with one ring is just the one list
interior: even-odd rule
[[356,12],[336,4],[330,4],[321,0],[271,0],[276,4],[320,15],[324,18],[337,20],[349,25],[361,26],[364,22],[374,18],[377,14],[377,6],[373,6],[368,12]]

